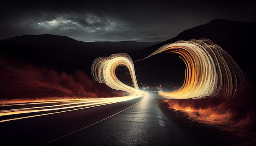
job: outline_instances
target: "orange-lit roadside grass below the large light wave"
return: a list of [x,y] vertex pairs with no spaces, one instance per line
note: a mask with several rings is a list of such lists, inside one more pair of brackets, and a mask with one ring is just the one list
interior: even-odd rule
[[[194,131],[198,131],[195,125],[201,124],[199,130],[206,132],[198,133],[207,136],[215,133],[215,137],[219,135],[219,139],[220,137],[225,139],[220,139],[216,142],[217,145],[225,145],[225,142],[228,145],[239,146],[256,144],[255,91],[248,83],[238,86],[234,97],[206,97],[199,100],[171,99],[161,102],[160,107],[174,122],[181,122],[186,127],[194,128]],[[207,132],[207,127],[215,129]],[[200,136],[194,133],[195,135]],[[207,136],[205,136],[205,142],[207,139],[210,141]]]

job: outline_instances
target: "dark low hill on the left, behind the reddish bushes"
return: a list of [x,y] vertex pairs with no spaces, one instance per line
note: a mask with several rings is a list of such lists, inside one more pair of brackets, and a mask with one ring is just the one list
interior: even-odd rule
[[90,67],[98,57],[113,53],[131,53],[159,42],[82,42],[60,35],[22,35],[0,40],[0,51],[37,66],[58,72],[72,73],[76,69],[90,75]]

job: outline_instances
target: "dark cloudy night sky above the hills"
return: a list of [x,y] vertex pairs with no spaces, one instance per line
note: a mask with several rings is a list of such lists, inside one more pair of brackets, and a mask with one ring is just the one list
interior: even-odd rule
[[84,42],[164,41],[213,19],[255,22],[252,1],[0,1],[0,39],[65,35]]

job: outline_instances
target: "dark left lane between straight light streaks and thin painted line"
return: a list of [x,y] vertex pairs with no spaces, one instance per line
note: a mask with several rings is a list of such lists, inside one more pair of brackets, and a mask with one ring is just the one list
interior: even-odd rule
[[0,146],[40,146],[115,115],[141,99],[0,122]]

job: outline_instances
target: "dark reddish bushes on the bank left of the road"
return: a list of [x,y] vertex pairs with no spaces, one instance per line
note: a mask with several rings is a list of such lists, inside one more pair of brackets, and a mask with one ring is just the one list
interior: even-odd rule
[[36,99],[45,97],[101,98],[120,97],[106,84],[96,82],[76,70],[72,74],[58,73],[53,69],[38,67],[24,60],[0,54],[0,97],[3,99]]

